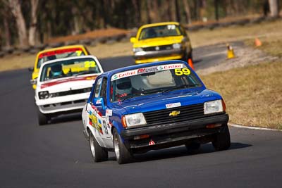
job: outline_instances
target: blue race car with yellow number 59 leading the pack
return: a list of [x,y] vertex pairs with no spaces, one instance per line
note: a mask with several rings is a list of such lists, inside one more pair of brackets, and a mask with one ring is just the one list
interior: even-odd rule
[[184,61],[161,61],[103,73],[82,111],[95,162],[114,151],[118,163],[134,153],[184,144],[217,151],[231,145],[228,114],[220,94],[207,89]]

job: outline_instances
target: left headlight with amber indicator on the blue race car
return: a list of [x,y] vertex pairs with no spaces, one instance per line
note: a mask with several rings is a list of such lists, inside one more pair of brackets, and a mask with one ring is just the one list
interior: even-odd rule
[[123,123],[123,127],[134,127],[138,125],[147,124],[143,113],[133,113],[128,115],[123,115],[122,123]]

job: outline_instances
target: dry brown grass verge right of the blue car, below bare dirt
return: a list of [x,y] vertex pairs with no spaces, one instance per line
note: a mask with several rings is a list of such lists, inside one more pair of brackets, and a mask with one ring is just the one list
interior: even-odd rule
[[226,101],[230,123],[282,130],[282,62],[202,76]]

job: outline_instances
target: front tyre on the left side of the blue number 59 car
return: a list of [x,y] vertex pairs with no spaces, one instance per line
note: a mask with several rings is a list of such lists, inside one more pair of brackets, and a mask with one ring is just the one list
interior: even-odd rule
[[119,164],[129,163],[132,159],[132,154],[125,147],[121,140],[121,136],[116,130],[113,132],[114,135],[114,152],[116,154],[116,161]]

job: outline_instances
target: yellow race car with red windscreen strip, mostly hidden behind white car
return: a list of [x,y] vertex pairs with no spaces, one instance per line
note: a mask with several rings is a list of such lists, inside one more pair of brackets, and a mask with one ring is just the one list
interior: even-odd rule
[[[58,58],[68,58],[75,56],[87,56],[90,55],[89,51],[83,45],[71,45],[71,46],[62,46],[59,48],[53,49],[45,49],[43,51],[39,51],[35,59],[35,66],[33,68],[29,68],[32,71],[32,80],[31,83],[35,83],[35,80],[38,77],[39,68],[42,63],[46,61],[51,61]],[[67,70],[64,70],[66,72]],[[32,84],[33,89],[36,89],[36,84]]]

